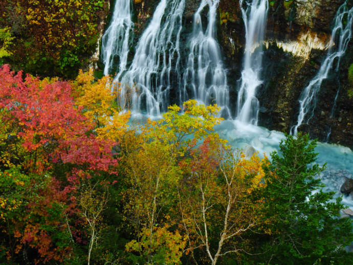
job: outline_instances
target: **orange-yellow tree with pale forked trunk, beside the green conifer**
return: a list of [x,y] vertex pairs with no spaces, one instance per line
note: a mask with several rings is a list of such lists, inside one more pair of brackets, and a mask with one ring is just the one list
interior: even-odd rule
[[180,162],[179,208],[192,257],[203,249],[201,255],[215,265],[225,255],[247,251],[242,235],[260,225],[262,201],[252,193],[263,185],[262,164],[256,154],[246,158],[213,135]]

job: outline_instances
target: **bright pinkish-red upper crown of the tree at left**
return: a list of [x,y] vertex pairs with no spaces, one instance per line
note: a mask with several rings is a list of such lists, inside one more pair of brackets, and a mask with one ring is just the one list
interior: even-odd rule
[[[112,140],[98,139],[94,124],[75,107],[71,85],[57,80],[39,80],[22,73],[0,69],[0,108],[4,123],[26,152],[22,159],[30,171],[40,172],[48,162],[86,165],[90,170],[108,171],[117,165],[112,159]],[[18,157],[18,156],[17,156]]]

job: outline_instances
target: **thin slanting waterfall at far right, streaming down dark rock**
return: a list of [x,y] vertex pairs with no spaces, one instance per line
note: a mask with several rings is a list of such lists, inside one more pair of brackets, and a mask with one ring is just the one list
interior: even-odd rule
[[[348,10],[344,3],[337,11],[334,23],[334,29],[329,43],[329,50],[326,58],[321,64],[319,72],[310,81],[301,93],[299,99],[299,115],[295,126],[291,128],[291,134],[297,135],[298,127],[304,122],[307,123],[314,115],[316,107],[316,96],[320,91],[321,83],[328,77],[333,67],[334,61],[337,59],[336,71],[339,69],[340,59],[344,55],[348,42],[352,36],[353,26],[353,7]],[[336,101],[337,97],[335,98]],[[336,102],[335,102],[336,104]]]

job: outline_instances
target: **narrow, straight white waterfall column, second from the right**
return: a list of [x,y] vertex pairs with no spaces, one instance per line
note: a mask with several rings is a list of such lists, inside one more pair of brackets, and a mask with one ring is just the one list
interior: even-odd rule
[[237,120],[257,125],[259,101],[256,89],[262,84],[260,73],[262,68],[262,43],[267,23],[268,0],[253,0],[245,3],[239,1],[242,18],[245,24],[245,56],[244,68],[241,71],[241,84],[237,99]]

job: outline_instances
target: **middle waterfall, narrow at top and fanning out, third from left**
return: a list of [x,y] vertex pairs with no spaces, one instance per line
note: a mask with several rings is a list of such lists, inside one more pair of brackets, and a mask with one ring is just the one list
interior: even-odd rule
[[[216,16],[219,0],[202,0],[194,14],[190,53],[187,58],[183,79],[184,86],[180,92],[180,103],[192,97],[203,104],[216,103],[221,107],[221,115],[231,118],[227,76],[220,49],[215,36]],[[207,27],[202,19],[202,12],[208,7]]]

